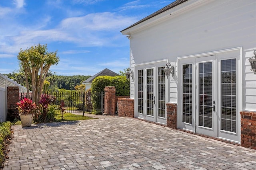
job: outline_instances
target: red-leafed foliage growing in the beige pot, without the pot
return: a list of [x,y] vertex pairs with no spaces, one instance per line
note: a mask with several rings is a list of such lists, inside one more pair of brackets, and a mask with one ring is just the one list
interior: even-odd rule
[[39,107],[36,106],[35,102],[33,103],[32,100],[29,98],[24,98],[20,100],[20,102],[16,103],[18,105],[18,111],[20,114],[26,115],[26,114],[35,114],[39,115]]

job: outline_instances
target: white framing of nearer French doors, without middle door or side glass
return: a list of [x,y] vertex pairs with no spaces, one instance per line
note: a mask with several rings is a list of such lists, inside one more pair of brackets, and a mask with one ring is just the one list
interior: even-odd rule
[[[210,55],[216,55],[216,135],[214,137],[224,139],[227,141],[232,141],[235,143],[240,143],[240,110],[242,106],[242,99],[236,97],[236,133],[227,132],[221,130],[221,73],[220,73],[220,62],[222,60],[227,59],[236,59],[236,96],[241,96],[242,94],[242,47],[233,48],[233,49],[225,49],[220,51],[213,51],[209,53],[202,53],[198,55],[190,55],[185,57],[178,57],[177,58],[177,65],[178,65],[178,99],[177,99],[177,127],[180,129],[184,129],[187,131],[197,132],[195,129],[195,122],[193,121],[192,124],[186,124],[182,122],[182,65],[191,63],[193,65],[193,80],[195,81],[194,75],[196,74],[196,58],[198,57],[206,57]],[[195,82],[193,84],[196,84]],[[193,87],[193,94],[196,94],[195,87]],[[196,95],[193,95],[193,119],[196,119]],[[207,135],[207,134],[206,134]]]

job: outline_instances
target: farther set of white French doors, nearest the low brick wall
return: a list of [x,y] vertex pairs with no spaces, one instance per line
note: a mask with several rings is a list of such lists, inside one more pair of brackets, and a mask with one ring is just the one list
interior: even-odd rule
[[166,62],[137,66],[135,117],[166,125]]

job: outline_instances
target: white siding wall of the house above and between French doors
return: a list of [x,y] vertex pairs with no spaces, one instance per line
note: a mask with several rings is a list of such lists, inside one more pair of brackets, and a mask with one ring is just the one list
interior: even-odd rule
[[[242,109],[255,111],[256,76],[248,58],[256,49],[256,1],[187,1],[181,5],[186,10],[175,7],[150,25],[126,30],[131,35],[131,60],[141,64],[168,59],[176,65],[177,57],[242,47]],[[175,101],[177,77],[170,81],[170,96]]]

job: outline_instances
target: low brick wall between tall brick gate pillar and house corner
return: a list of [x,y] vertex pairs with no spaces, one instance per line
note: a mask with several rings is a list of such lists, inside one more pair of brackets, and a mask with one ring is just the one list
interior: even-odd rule
[[134,117],[134,99],[118,98],[118,116]]

